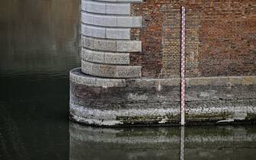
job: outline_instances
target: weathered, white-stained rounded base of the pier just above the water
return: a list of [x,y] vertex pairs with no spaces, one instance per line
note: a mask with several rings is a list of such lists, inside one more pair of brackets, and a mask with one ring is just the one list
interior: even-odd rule
[[[256,121],[255,77],[187,78],[186,82],[186,124]],[[95,78],[73,69],[70,118],[97,126],[178,125],[180,79]]]

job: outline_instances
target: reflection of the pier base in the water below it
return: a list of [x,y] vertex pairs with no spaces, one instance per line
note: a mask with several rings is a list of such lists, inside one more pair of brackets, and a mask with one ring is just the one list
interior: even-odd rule
[[70,123],[73,159],[254,159],[255,126],[105,129]]

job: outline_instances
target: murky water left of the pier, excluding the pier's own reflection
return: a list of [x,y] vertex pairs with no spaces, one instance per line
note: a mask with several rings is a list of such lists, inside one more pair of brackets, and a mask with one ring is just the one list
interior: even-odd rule
[[0,159],[69,158],[79,0],[0,1]]

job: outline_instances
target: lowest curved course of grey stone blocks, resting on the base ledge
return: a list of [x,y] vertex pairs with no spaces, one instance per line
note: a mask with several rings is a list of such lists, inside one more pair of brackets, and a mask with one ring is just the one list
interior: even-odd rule
[[105,65],[82,59],[82,72],[109,78],[141,78],[141,66]]

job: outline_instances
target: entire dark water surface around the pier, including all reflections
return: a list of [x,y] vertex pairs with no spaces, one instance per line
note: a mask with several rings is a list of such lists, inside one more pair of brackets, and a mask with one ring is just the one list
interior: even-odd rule
[[[0,1],[0,159],[256,159],[256,126],[70,123],[79,0]],[[184,146],[184,147],[183,147]]]

